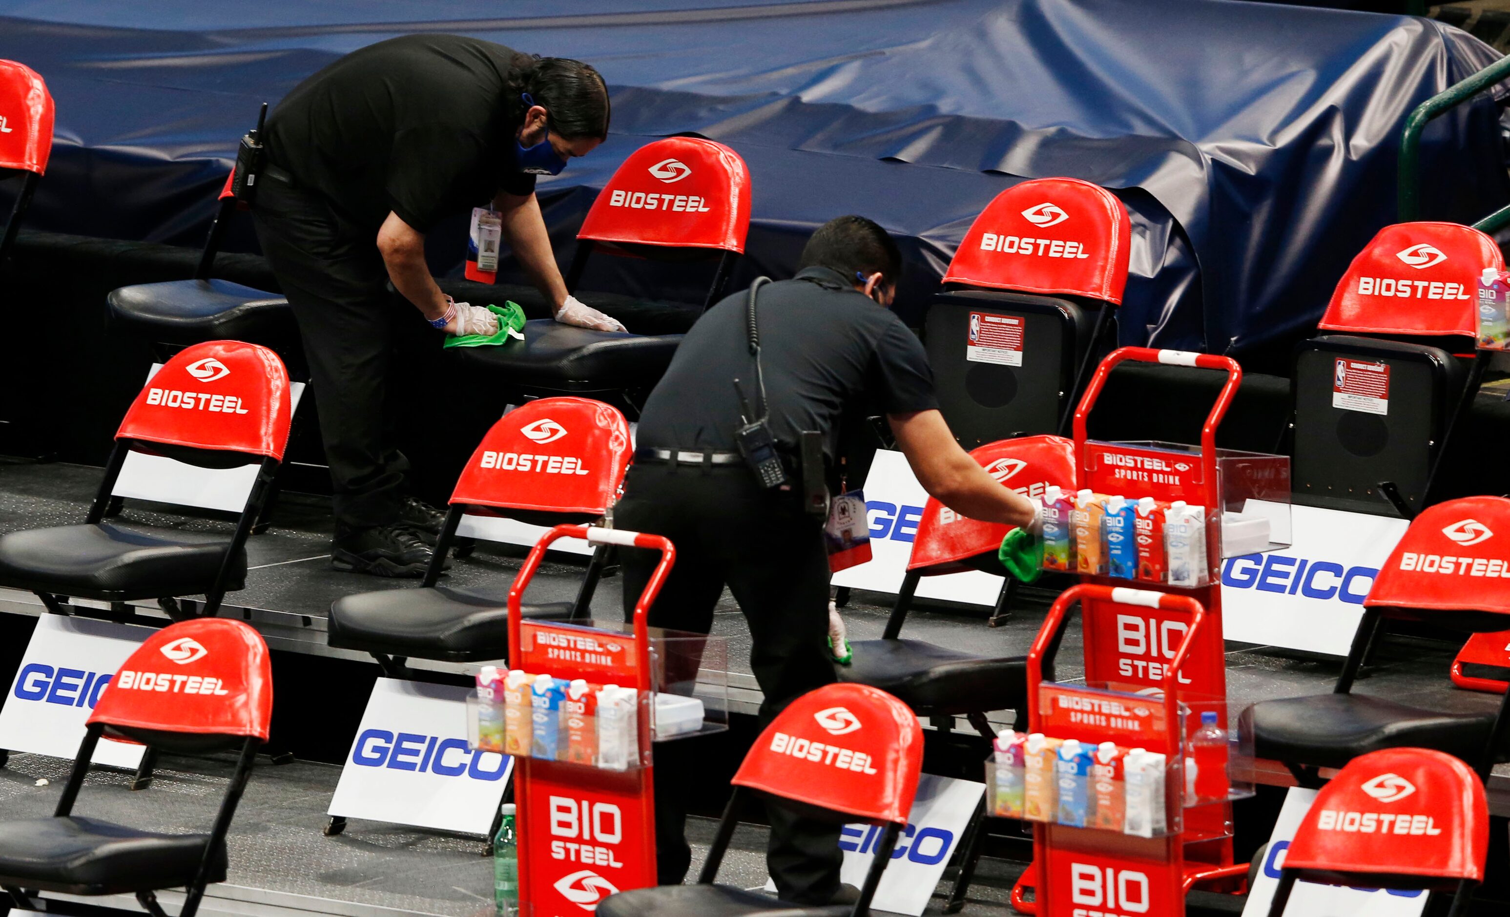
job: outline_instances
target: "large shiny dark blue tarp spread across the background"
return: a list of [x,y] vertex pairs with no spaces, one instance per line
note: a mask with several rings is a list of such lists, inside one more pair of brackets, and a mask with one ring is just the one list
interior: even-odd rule
[[[258,101],[364,44],[464,32],[590,60],[610,83],[610,144],[541,186],[562,246],[624,156],[696,131],[750,165],[744,273],[787,273],[812,227],[870,215],[904,240],[901,311],[915,323],[995,193],[1074,175],[1132,211],[1123,343],[1241,355],[1317,320],[1350,257],[1394,222],[1406,115],[1498,56],[1430,20],[1234,0],[516,0],[507,18],[498,11],[0,3],[0,57],[38,69],[57,100],[57,147],[29,225],[196,245]],[[1427,131],[1425,216],[1471,222],[1510,201],[1496,118],[1483,98]],[[459,224],[436,239],[442,267],[459,261]]]

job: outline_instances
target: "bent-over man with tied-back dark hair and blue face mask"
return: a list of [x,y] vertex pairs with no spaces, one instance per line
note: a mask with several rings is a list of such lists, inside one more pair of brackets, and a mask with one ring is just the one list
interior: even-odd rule
[[568,296],[535,199],[538,174],[559,174],[607,133],[593,68],[458,35],[352,51],[269,116],[257,236],[310,363],[337,568],[420,576],[444,518],[403,496],[408,461],[385,435],[393,350],[421,317],[445,334],[498,331],[492,313],[453,302],[430,276],[424,236],[442,216],[491,201],[557,320],[622,331]]

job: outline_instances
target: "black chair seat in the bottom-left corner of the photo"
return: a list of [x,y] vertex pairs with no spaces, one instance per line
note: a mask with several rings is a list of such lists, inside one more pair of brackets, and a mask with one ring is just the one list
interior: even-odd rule
[[[0,822],[0,884],[65,894],[119,894],[193,881],[208,834],[154,834],[94,819]],[[210,860],[225,881],[225,844]]]

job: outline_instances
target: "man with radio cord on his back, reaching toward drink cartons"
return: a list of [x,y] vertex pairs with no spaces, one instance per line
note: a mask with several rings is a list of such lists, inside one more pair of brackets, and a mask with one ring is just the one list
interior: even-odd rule
[[[992,480],[944,423],[923,344],[885,308],[900,266],[880,227],[841,216],[812,234],[794,279],[761,289],[757,325],[772,434],[790,450],[800,432],[817,431],[832,459],[841,414],[874,403],[929,494],[962,515],[1034,526],[1036,506]],[[707,633],[728,585],[749,621],[750,666],[769,721],[793,698],[834,681],[824,642],[829,565],[821,520],[803,511],[796,491],[763,488],[737,453],[741,414],[760,414],[746,304],[744,292],[726,298],[676,347],[640,415],[615,526],[676,545],[651,625]],[[651,551],[625,551],[627,612],[654,563]],[[655,751],[661,884],[681,882],[687,872],[683,801],[695,780],[692,752],[678,743]],[[775,807],[767,814],[767,864],[781,897],[832,902],[843,863],[838,828]]]

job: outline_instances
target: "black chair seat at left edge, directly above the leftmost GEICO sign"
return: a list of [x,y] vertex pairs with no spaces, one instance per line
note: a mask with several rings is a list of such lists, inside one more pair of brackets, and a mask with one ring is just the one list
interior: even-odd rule
[[[231,539],[193,532],[148,532],[110,523],[59,526],[0,535],[0,586],[80,598],[131,601],[199,595],[231,548]],[[237,551],[228,589],[246,580],[246,550]]]

